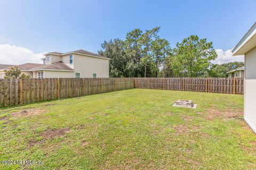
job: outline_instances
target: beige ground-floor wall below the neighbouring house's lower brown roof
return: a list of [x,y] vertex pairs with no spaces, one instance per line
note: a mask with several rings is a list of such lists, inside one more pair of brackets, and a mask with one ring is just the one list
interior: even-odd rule
[[75,73],[71,71],[44,71],[44,78],[75,78]]

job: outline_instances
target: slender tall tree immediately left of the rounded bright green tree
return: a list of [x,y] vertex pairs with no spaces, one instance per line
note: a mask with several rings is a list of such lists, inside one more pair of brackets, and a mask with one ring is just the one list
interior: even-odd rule
[[[170,53],[170,43],[166,39],[157,38],[152,41],[152,56],[155,62],[155,77],[157,78],[157,74],[159,72],[159,67],[164,63],[165,57]],[[163,65],[164,67],[164,65]],[[164,69],[164,68],[163,68]]]

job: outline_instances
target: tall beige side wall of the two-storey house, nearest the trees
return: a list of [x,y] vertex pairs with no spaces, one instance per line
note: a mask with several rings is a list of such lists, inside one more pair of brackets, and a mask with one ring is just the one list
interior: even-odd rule
[[92,78],[93,73],[97,78],[108,78],[109,60],[74,54],[74,70],[81,78]]

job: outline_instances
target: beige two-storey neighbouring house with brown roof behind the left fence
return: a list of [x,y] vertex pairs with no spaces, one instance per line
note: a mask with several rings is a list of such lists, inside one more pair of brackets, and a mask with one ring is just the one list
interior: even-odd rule
[[[43,64],[26,63],[17,65],[21,73],[30,78],[108,78],[110,58],[83,49],[69,53],[44,54]],[[4,70],[14,65],[0,64],[0,79]]]

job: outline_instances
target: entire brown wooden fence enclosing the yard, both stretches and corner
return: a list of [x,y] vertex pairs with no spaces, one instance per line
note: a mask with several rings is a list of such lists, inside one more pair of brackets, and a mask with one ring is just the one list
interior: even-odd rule
[[243,78],[0,79],[0,107],[133,88],[243,94]]

